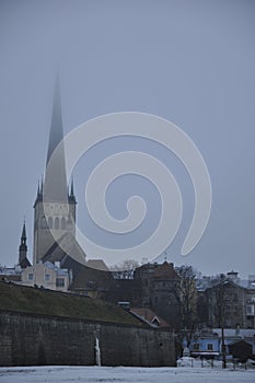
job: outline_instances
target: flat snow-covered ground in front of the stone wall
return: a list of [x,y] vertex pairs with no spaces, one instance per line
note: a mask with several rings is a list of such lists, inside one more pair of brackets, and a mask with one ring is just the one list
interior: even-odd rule
[[106,367],[36,367],[0,368],[1,383],[221,383],[255,382],[255,370],[219,368],[106,368]]

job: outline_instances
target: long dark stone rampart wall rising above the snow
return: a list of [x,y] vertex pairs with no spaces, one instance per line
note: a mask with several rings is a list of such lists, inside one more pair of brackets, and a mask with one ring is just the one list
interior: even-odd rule
[[0,312],[0,365],[175,365],[171,332]]

